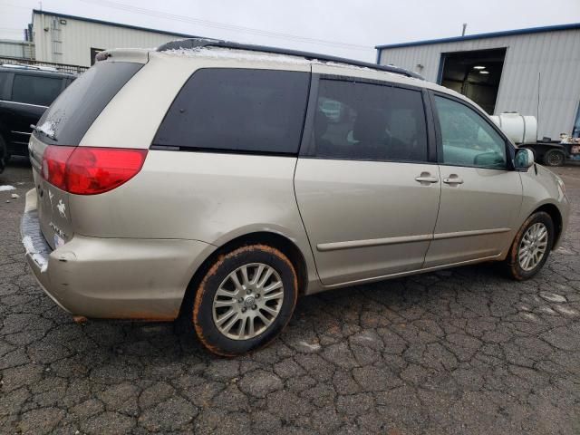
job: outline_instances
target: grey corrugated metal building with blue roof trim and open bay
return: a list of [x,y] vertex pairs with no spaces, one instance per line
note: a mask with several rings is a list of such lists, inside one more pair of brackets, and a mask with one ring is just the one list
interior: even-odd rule
[[488,111],[538,120],[538,137],[580,133],[580,23],[377,45],[377,63],[438,82]]

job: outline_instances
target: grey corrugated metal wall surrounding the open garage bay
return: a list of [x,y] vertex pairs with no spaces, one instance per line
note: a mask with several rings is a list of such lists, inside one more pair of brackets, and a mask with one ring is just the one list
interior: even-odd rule
[[507,53],[495,113],[538,116],[539,83],[538,137],[556,139],[560,133],[571,133],[580,102],[580,30],[387,48],[382,49],[380,63],[410,69],[436,82],[441,53],[501,47],[507,47]]

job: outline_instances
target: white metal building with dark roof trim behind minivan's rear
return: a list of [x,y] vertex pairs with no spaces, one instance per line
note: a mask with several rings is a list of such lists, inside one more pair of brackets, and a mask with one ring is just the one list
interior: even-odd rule
[[37,61],[82,66],[91,66],[95,54],[108,48],[157,47],[194,37],[37,9],[30,27]]

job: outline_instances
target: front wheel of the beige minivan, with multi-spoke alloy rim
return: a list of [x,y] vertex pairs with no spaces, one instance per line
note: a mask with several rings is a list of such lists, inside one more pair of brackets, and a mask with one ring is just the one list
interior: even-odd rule
[[[530,237],[530,234],[534,234],[536,228],[544,228],[546,237],[540,237],[537,242],[530,242],[534,238]],[[530,246],[530,243],[532,243],[531,247],[526,248],[526,246]],[[552,218],[543,211],[534,213],[526,219],[526,222],[517,231],[514,242],[509,248],[505,261],[507,273],[517,281],[525,281],[536,275],[546,264],[547,257],[550,255],[550,250],[553,245],[554,223],[552,222]],[[533,255],[535,252],[538,252],[536,248],[541,249],[541,247],[545,247],[541,256]],[[531,252],[532,255],[526,255],[526,252]],[[527,258],[530,257],[533,258],[527,262]]]

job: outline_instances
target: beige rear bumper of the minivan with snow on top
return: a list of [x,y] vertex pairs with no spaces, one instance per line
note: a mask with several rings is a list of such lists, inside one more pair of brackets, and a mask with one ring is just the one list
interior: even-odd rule
[[33,189],[21,225],[26,258],[44,292],[73,315],[175,319],[191,277],[215,249],[196,240],[76,235],[52,250],[35,199]]

